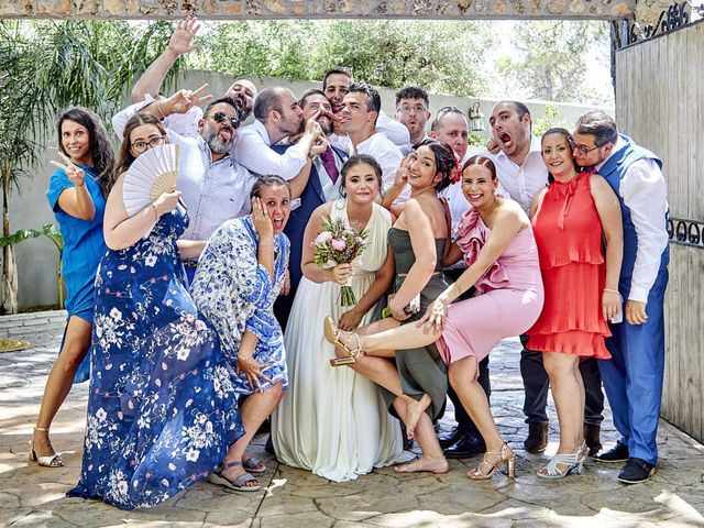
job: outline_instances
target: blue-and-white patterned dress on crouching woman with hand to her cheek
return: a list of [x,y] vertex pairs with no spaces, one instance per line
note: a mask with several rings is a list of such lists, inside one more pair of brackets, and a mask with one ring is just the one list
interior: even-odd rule
[[[288,388],[282,327],[274,317],[274,301],[284,286],[288,267],[289,241],[274,237],[274,279],[257,263],[258,235],[252,217],[228,220],[212,233],[198,261],[190,295],[200,312],[216,327],[222,350],[237,364],[245,330],[257,337],[254,359],[270,364],[262,372]],[[272,385],[261,380],[262,389]],[[252,394],[244,373],[234,384],[239,394]],[[255,391],[256,389],[255,387]]]

